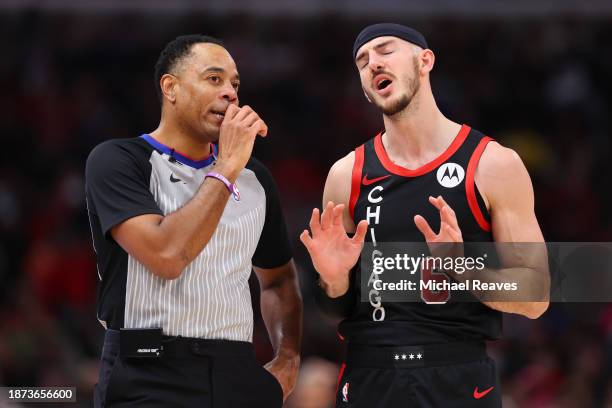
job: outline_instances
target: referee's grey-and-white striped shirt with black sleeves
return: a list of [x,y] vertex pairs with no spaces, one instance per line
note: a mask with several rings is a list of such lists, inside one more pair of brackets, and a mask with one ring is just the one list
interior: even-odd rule
[[236,180],[240,201],[228,200],[211,240],[175,280],[151,273],[109,233],[131,217],[181,208],[213,165],[213,154],[194,161],[149,135],[110,140],[91,152],[86,195],[104,327],[161,327],[171,336],[252,341],[252,265],[272,268],[291,258],[278,192],[261,163],[251,159],[242,170]]

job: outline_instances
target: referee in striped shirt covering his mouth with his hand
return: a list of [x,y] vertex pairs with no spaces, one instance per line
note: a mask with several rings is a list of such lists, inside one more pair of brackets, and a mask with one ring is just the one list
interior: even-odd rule
[[[251,158],[267,125],[239,107],[236,64],[217,39],[177,37],[155,83],[157,129],[87,160],[106,329],[94,406],[280,407],[297,377],[302,303],[278,192]],[[265,368],[251,269],[275,352]]]

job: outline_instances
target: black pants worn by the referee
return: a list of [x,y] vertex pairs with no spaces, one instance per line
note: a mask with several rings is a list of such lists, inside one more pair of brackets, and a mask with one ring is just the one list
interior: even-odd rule
[[251,343],[164,337],[163,348],[158,358],[123,358],[119,332],[107,330],[94,407],[282,406],[282,388]]

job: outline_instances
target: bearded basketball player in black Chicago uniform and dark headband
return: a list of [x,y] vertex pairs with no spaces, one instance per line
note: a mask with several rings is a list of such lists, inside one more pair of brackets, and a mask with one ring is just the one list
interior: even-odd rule
[[385,303],[370,291],[360,302],[371,287],[360,287],[356,264],[364,240],[543,242],[529,175],[514,151],[440,112],[429,81],[435,56],[419,32],[369,26],[353,57],[384,131],[332,166],[323,212],[313,210],[312,236],[300,236],[323,307],[345,317],[337,406],[499,407],[484,341],[500,336],[501,312],[534,319],[546,310],[548,275],[516,267],[480,275],[528,287],[542,301]]

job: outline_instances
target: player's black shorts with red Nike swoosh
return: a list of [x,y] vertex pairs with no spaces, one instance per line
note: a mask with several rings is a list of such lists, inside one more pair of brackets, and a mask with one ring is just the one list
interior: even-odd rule
[[348,345],[337,408],[499,408],[495,362],[484,343]]

